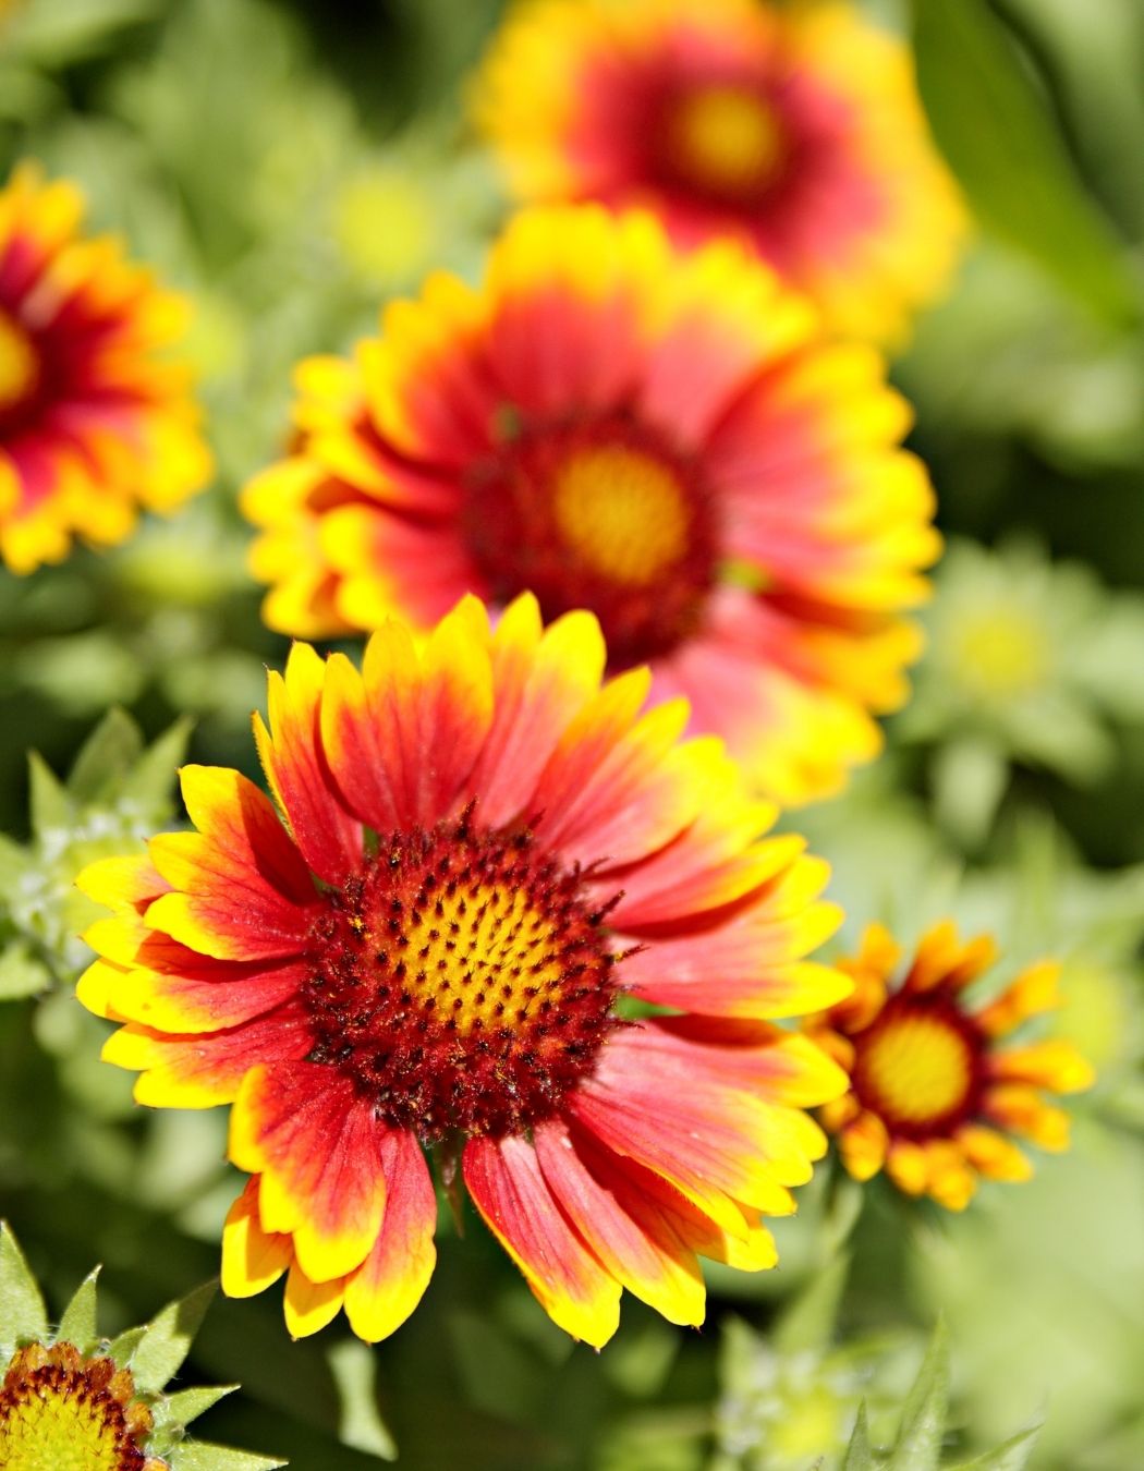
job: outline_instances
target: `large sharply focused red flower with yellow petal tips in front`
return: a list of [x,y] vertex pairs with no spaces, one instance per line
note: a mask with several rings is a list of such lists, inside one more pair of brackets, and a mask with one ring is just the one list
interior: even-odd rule
[[[803,959],[834,930],[825,865],[759,838],[718,741],[676,741],[646,671],[601,687],[588,613],[490,633],[466,599],[363,671],[296,644],[262,759],[287,827],[235,771],[187,766],[197,828],[81,886],[106,1056],[153,1106],[232,1103],[251,1174],[224,1290],[284,1271],[294,1336],[340,1308],[376,1340],[434,1265],[431,1149],[551,1318],[604,1343],[621,1289],[703,1317],[696,1253],[773,1262],[760,1214],[825,1147],[803,1106],[844,1074],[768,1018],[848,990]],[[631,1000],[672,1015],[631,1015]],[[647,1012],[643,1006],[637,1011]]]

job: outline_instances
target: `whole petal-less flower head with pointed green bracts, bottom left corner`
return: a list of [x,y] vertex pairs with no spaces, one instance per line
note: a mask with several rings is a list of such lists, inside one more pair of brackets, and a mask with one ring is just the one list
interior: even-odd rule
[[[146,1328],[115,1343],[96,1328],[96,1275],[81,1284],[49,1331],[47,1311],[7,1225],[0,1224],[0,1467],[4,1471],[228,1471],[237,1452],[182,1446],[190,1420],[226,1389],[165,1395],[182,1364],[212,1289],[171,1303]],[[243,1471],[284,1465],[241,1456]]]

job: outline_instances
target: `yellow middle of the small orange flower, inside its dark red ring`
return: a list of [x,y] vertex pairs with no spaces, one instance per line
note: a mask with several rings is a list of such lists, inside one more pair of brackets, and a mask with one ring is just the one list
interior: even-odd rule
[[862,1050],[862,1075],[891,1121],[923,1124],[966,1097],[970,1062],[969,1046],[953,1027],[915,1014],[873,1031]]

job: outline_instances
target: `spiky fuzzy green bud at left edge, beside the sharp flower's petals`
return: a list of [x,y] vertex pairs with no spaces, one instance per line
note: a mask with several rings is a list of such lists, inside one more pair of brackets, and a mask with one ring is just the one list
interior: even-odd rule
[[75,980],[88,956],[78,937],[103,913],[75,888],[75,875],[97,858],[135,852],[171,818],[188,734],[178,721],[144,746],[131,716],[112,709],[66,781],[29,753],[31,838],[0,837],[0,1002]]

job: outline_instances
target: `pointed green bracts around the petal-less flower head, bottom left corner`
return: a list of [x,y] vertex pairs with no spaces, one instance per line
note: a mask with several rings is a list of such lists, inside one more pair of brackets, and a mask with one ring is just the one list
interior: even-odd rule
[[131,1371],[135,1399],[143,1400],[151,1415],[151,1430],[141,1449],[171,1471],[275,1471],[284,1467],[285,1461],[184,1439],[187,1425],[238,1389],[237,1384],[165,1393],[187,1358],[218,1284],[196,1287],[168,1303],[149,1324],[128,1328],[107,1342],[97,1328],[97,1277],[99,1268],[82,1280],[51,1333],[35,1277],[10,1227],[0,1221],[0,1381],[18,1349],[34,1343],[44,1347],[69,1343],[84,1358],[106,1356],[118,1368]]

